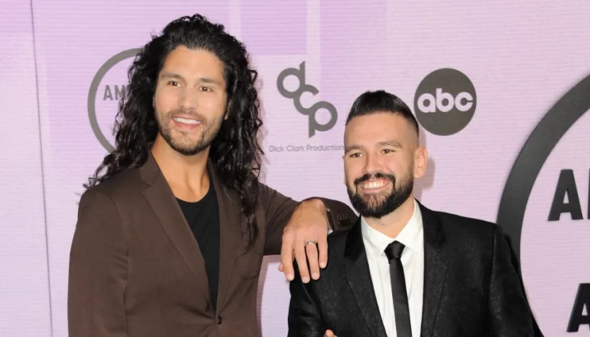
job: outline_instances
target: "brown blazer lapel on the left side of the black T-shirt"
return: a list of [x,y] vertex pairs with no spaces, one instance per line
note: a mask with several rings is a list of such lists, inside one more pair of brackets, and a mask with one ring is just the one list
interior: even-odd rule
[[199,250],[199,244],[196,243],[187,219],[184,218],[174,193],[172,193],[172,189],[162,175],[151,152],[140,171],[142,180],[148,185],[143,190],[145,199],[150,203],[157,219],[160,220],[160,224],[176,246],[180,256],[189,266],[201,292],[207,299],[207,303],[211,305],[211,292],[208,286],[205,261]]

